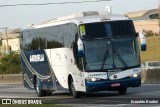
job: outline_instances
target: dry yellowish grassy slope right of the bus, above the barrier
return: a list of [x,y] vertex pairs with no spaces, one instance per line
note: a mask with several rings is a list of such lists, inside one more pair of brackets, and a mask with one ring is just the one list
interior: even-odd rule
[[160,61],[160,36],[147,37],[147,51],[141,51],[141,63]]

